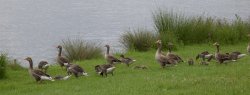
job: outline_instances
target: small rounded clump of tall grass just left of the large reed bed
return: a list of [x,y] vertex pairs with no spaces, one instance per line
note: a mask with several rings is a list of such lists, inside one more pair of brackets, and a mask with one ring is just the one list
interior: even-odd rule
[[120,43],[127,50],[147,51],[154,47],[156,40],[156,33],[146,29],[135,29],[122,34]]

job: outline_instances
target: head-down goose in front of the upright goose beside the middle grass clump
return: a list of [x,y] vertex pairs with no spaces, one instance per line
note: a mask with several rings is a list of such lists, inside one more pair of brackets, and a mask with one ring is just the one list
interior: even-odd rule
[[103,64],[103,65],[96,65],[95,71],[100,74],[101,76],[108,76],[108,74],[114,75],[115,67],[112,64]]

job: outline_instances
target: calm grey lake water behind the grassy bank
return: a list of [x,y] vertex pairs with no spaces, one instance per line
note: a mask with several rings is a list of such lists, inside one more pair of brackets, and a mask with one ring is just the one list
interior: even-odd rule
[[129,28],[153,30],[152,12],[159,8],[229,20],[250,16],[250,0],[0,0],[0,51],[23,66],[26,56],[53,63],[56,46],[67,38],[121,51],[120,35]]

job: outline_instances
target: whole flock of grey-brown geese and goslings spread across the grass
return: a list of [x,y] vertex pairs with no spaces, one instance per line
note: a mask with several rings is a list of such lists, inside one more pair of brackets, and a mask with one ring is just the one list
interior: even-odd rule
[[[176,66],[177,64],[184,62],[182,58],[172,52],[172,43],[168,43],[168,51],[167,53],[164,53],[162,51],[162,42],[161,40],[157,40],[156,42],[157,45],[157,50],[155,53],[155,60],[161,68],[165,68],[166,66]],[[221,53],[220,48],[219,48],[219,43],[215,42],[213,44],[216,47],[216,52],[215,54],[211,54],[208,51],[203,51],[199,53],[196,56],[196,60],[199,58],[202,59],[201,63],[202,65],[208,65],[209,62],[214,59],[220,64],[227,64],[228,61],[236,61],[244,56],[246,54],[240,53],[238,51],[234,51],[231,53]],[[111,74],[112,76],[114,75],[114,70],[116,69],[115,64],[116,63],[123,63],[127,67],[129,67],[134,61],[136,61],[133,58],[125,57],[123,54],[120,55],[120,58],[114,57],[112,54],[110,54],[110,46],[105,45],[106,47],[106,52],[104,55],[104,59],[106,60],[106,64],[100,64],[94,66],[95,72],[103,77],[107,77],[108,74]],[[58,65],[62,68],[63,71],[66,70],[67,76],[55,76],[51,77],[49,74],[47,74],[47,69],[49,68],[49,64],[47,61],[40,61],[38,64],[38,69],[33,68],[33,60],[31,57],[27,57],[24,60],[27,60],[29,63],[29,74],[37,81],[41,82],[43,80],[49,80],[49,81],[55,81],[55,80],[67,80],[69,79],[72,75],[75,76],[76,78],[80,76],[88,76],[88,73],[84,70],[83,67],[80,65],[74,64],[70,62],[67,58],[62,56],[62,46],[58,45],[58,55],[57,55],[57,63]],[[250,53],[250,43],[247,46],[247,52]],[[207,60],[206,60],[207,59]],[[194,65],[194,59],[189,58],[187,60],[188,65]],[[65,68],[65,69],[64,69]],[[148,67],[145,65],[137,65],[134,66],[134,69],[147,69]]]

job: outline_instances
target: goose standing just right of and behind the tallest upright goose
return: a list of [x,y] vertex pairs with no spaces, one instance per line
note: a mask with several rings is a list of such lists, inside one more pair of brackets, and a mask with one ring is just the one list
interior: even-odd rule
[[172,43],[168,43],[168,52],[167,52],[167,58],[169,58],[169,59],[174,59],[174,60],[176,60],[178,63],[179,62],[184,62],[182,59],[181,59],[181,57],[180,56],[178,56],[178,55],[176,55],[176,54],[174,54],[174,53],[172,53],[172,51],[171,51],[171,48],[173,47],[173,44]]

